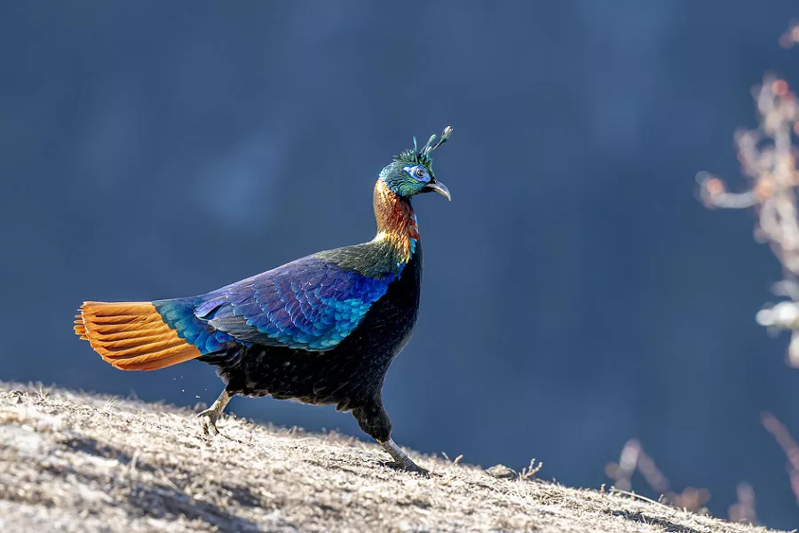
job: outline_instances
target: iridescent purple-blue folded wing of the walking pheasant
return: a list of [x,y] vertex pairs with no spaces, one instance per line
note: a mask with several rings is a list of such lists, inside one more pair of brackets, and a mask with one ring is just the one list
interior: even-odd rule
[[358,326],[391,281],[309,256],[209,293],[194,316],[240,342],[323,351]]

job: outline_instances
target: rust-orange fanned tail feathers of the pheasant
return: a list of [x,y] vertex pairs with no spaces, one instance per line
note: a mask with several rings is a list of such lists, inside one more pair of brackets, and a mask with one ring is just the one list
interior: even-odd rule
[[75,333],[121,370],[156,370],[200,357],[150,302],[83,302]]

